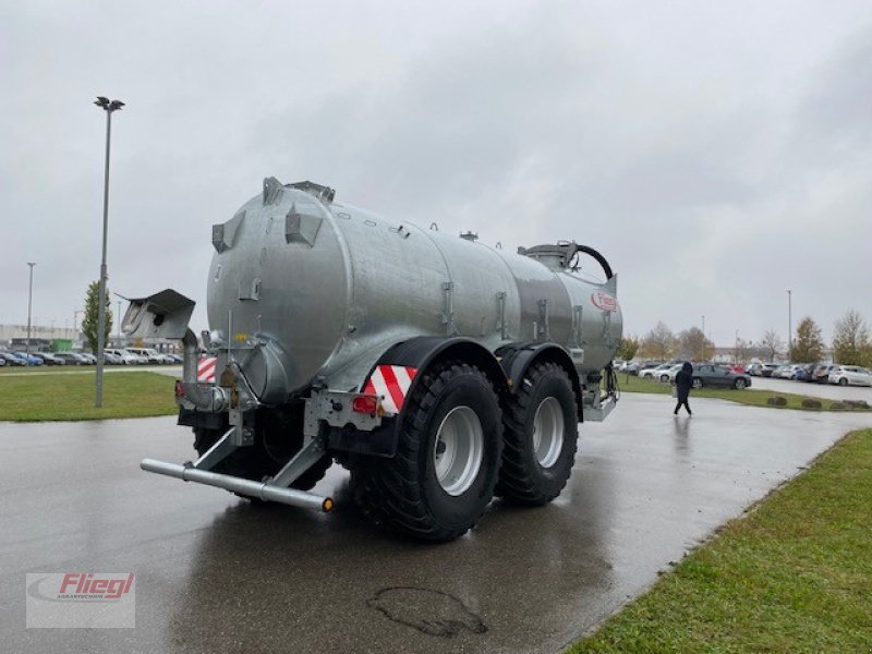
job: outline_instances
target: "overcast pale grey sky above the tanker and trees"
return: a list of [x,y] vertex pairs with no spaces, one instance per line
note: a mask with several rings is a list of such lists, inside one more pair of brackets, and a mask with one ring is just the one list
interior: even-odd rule
[[[0,323],[199,303],[264,177],[488,243],[574,239],[626,331],[872,319],[872,4],[0,0]],[[596,270],[596,265],[591,266]],[[114,308],[114,304],[112,305]]]

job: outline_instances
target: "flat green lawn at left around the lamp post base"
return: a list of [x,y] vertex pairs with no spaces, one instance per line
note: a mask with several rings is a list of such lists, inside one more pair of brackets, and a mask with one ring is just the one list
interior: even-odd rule
[[170,415],[177,411],[174,380],[167,375],[105,375],[101,409],[94,408],[94,382],[93,368],[81,375],[40,373],[0,376],[0,421],[143,417]]

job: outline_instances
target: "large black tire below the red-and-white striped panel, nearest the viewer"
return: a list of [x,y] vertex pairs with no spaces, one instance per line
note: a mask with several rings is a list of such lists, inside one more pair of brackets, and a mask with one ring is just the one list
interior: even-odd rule
[[[499,401],[481,370],[459,362],[437,363],[426,371],[407,401],[396,456],[355,465],[355,495],[382,526],[423,541],[452,541],[475,526],[494,495],[502,455]],[[440,481],[436,467],[437,436],[450,422],[449,414],[474,416],[481,431],[480,465],[461,475],[468,485],[457,494],[446,489],[452,480]],[[465,440],[460,429],[455,433],[458,443],[477,441],[470,431]]]

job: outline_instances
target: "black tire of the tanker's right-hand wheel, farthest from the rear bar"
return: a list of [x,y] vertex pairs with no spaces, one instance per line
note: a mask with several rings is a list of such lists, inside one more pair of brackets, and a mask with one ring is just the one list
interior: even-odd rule
[[[561,440],[552,440],[553,447],[545,452],[542,449],[547,441],[540,440],[537,452],[534,424],[549,398],[559,404]],[[547,424],[548,420],[543,422]],[[559,424],[553,426],[560,431]],[[569,481],[578,449],[576,395],[566,371],[554,363],[531,366],[520,388],[504,404],[502,427],[505,447],[496,494],[523,506],[548,504]]]

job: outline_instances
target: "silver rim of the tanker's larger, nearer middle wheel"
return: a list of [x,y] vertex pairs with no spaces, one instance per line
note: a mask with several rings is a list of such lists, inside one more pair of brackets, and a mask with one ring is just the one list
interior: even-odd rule
[[484,432],[475,411],[456,407],[448,412],[433,444],[436,480],[448,495],[465,493],[482,468]]

